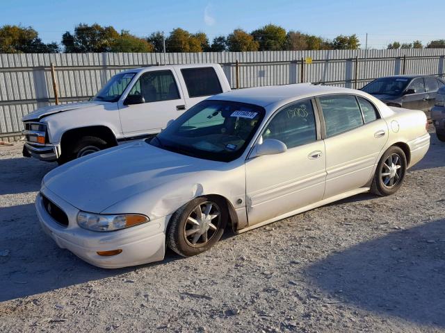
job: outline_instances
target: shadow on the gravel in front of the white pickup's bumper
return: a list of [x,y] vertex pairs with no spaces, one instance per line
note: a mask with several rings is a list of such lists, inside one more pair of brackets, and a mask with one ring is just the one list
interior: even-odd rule
[[0,196],[39,191],[42,178],[55,167],[56,163],[41,162],[34,158],[0,159]]

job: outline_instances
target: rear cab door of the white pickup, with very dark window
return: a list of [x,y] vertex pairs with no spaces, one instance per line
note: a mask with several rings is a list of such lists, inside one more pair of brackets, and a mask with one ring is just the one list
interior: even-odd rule
[[218,74],[213,67],[175,69],[184,88],[186,108],[204,101],[209,96],[223,92]]

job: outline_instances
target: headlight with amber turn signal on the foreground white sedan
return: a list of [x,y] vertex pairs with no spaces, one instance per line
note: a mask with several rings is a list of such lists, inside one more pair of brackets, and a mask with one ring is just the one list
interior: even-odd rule
[[81,228],[92,231],[121,230],[148,221],[150,221],[149,218],[141,214],[105,215],[87,212],[79,212],[79,214],[77,214],[77,224],[79,224]]

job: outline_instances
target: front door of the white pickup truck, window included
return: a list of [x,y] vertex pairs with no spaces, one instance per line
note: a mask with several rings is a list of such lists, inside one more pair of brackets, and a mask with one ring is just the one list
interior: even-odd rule
[[[126,105],[125,97],[143,97],[143,103]],[[127,99],[127,101],[128,101]],[[170,69],[141,74],[119,102],[122,131],[127,138],[159,133],[185,110],[177,78]]]

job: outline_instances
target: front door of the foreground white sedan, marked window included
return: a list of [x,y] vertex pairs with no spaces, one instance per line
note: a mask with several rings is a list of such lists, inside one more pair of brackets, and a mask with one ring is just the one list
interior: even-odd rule
[[277,139],[287,151],[245,162],[248,223],[254,225],[323,198],[325,146],[317,135],[314,101],[305,99],[278,110],[259,138]]

